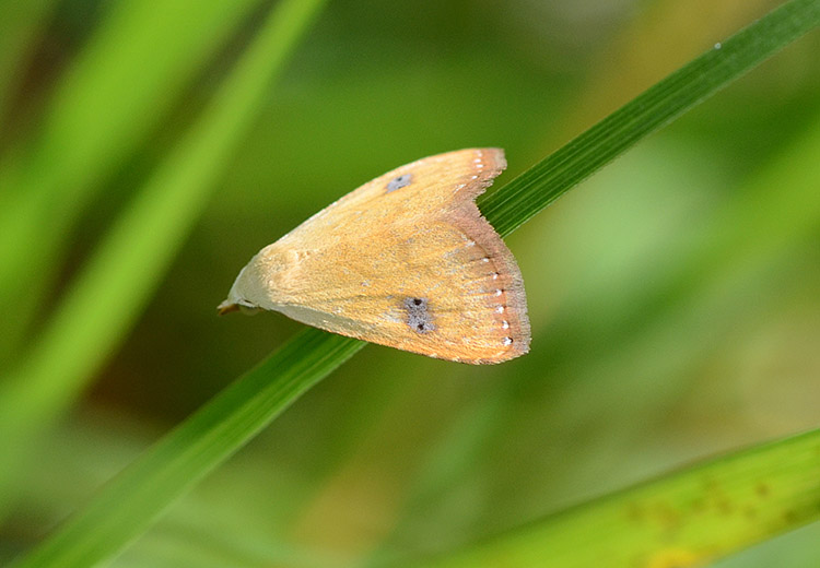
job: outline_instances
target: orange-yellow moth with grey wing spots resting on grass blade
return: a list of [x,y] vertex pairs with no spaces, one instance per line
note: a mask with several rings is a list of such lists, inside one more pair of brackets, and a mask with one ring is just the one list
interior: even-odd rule
[[502,150],[469,149],[377,177],[260,250],[220,313],[281,311],[461,363],[527,353],[520,271],[475,203],[505,167]]

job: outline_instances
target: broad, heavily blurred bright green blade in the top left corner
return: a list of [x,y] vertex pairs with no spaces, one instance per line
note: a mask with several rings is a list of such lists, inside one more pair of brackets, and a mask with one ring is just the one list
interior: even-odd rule
[[35,135],[0,159],[0,311],[14,322],[0,334],[0,360],[26,331],[102,180],[161,125],[257,2],[110,3]]

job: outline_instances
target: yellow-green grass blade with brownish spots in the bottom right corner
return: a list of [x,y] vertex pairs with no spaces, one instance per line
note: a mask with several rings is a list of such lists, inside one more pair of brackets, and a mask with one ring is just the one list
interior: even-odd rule
[[704,566],[820,518],[820,430],[716,459],[413,566]]

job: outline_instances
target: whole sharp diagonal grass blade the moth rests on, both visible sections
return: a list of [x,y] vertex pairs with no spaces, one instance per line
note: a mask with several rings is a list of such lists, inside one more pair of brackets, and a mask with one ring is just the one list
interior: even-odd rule
[[[490,196],[483,201],[487,217],[502,235],[509,234],[617,154],[727,85],[819,22],[820,1],[787,2],[733,36],[719,50],[695,59]],[[325,356],[324,350],[328,350],[328,345],[335,351]],[[69,520],[20,566],[79,566],[71,563],[79,561],[78,558],[97,561],[115,554],[194,481],[236,451],[254,433],[320,379],[321,374],[330,372],[360,347],[361,344],[352,340],[325,336],[316,330],[300,334],[283,347],[289,354],[286,358],[280,357],[281,351],[273,355],[279,362],[276,368],[265,364],[265,380],[276,381],[276,384],[286,381],[291,400],[283,402],[277,399],[276,404],[271,404],[266,382],[258,379],[261,371],[253,371],[195,413],[136,464],[127,468],[89,507]],[[319,358],[323,360],[321,367],[308,374],[293,374],[291,366],[304,368],[303,365]],[[249,383],[251,380],[253,384]],[[302,382],[295,384],[294,381]],[[231,436],[224,435],[222,423],[230,425]],[[140,496],[140,499],[131,500],[131,495]],[[128,506],[124,505],[126,502]],[[785,530],[785,526],[776,528],[776,531],[781,530]],[[93,563],[82,565],[87,564]]]

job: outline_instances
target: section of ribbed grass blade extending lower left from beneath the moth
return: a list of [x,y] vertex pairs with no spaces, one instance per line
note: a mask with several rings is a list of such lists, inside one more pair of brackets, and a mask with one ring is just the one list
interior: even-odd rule
[[316,329],[302,331],[145,452],[15,566],[84,568],[116,554],[183,490],[363,345]]

